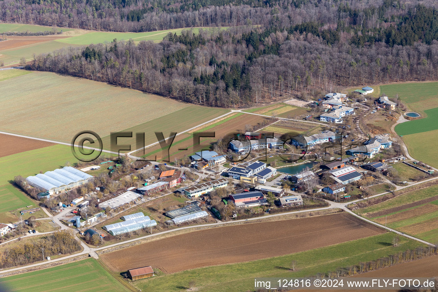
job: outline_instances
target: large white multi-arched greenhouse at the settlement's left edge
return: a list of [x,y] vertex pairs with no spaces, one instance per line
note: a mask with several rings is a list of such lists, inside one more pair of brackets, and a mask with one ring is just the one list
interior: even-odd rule
[[67,190],[88,183],[92,179],[88,173],[65,166],[62,169],[39,173],[36,176],[28,176],[26,182],[43,192],[53,194],[61,190]]

